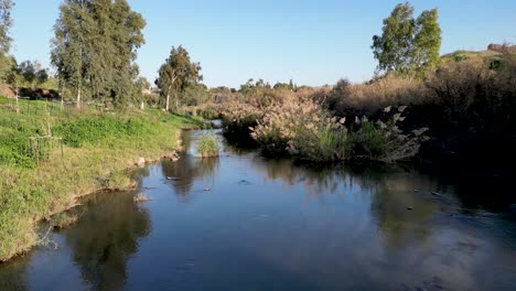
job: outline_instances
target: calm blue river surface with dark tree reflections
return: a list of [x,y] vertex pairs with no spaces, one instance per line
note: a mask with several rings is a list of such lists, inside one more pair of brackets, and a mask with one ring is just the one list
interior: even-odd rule
[[516,290],[505,185],[230,147],[200,160],[205,133],[184,133],[179,162],[139,171],[151,202],[88,197],[51,235],[57,249],[0,265],[0,290]]

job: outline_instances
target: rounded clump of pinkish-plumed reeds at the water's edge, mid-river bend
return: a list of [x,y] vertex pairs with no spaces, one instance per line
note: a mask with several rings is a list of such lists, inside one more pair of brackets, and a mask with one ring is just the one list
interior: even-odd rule
[[269,153],[288,152],[311,161],[348,158],[345,119],[330,118],[320,101],[290,97],[267,108],[251,137]]

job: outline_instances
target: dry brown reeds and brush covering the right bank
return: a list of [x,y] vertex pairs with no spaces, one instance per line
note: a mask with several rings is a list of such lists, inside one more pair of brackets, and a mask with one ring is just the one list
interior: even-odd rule
[[224,117],[226,136],[251,137],[275,154],[393,162],[423,146],[426,154],[491,159],[513,157],[516,146],[516,62],[508,52],[443,57],[423,78],[388,74],[364,84],[342,79],[333,88],[247,86],[218,94],[222,101],[208,108]]

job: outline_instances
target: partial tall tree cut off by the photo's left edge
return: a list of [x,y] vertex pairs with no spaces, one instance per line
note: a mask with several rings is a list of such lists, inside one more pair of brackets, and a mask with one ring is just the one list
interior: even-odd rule
[[0,79],[6,82],[10,75],[14,63],[9,56],[12,39],[9,35],[9,30],[12,26],[13,20],[11,11],[14,7],[12,0],[0,0]]

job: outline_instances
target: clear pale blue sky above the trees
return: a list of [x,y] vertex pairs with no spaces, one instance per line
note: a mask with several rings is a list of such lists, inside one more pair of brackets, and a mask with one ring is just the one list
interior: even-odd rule
[[[61,0],[14,0],[12,53],[18,61],[49,66],[52,28]],[[249,78],[275,84],[362,82],[376,66],[372,36],[401,0],[294,1],[129,0],[147,20],[147,44],[138,64],[151,82],[172,45],[182,44],[201,62],[209,87],[238,87]],[[439,8],[441,53],[516,43],[516,1],[418,0],[416,13]]]

